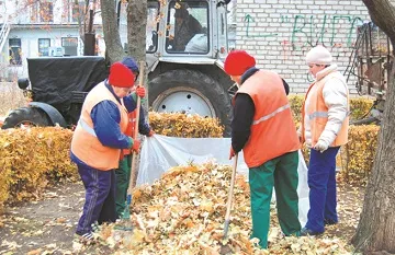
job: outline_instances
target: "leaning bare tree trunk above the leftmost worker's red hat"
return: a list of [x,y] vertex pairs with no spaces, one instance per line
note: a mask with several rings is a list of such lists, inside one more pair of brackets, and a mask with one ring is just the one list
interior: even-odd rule
[[113,63],[122,60],[125,56],[116,23],[115,2],[113,0],[100,0],[100,4],[103,19],[105,56],[106,60]]

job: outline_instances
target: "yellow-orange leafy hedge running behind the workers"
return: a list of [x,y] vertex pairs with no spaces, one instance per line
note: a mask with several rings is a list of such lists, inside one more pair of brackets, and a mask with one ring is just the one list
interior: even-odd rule
[[[217,119],[184,114],[150,113],[149,120],[157,134],[174,137],[221,137],[224,130]],[[379,129],[350,127],[350,141],[340,152],[339,181],[366,182]],[[50,182],[78,178],[77,167],[69,160],[71,137],[71,130],[59,127],[0,130],[0,211],[4,202],[36,197]],[[304,154],[308,159],[306,149]]]

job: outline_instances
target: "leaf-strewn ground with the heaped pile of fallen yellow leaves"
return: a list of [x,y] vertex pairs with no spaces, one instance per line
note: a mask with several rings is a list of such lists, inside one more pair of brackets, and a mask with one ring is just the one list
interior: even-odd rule
[[[0,254],[218,254],[230,172],[213,164],[169,171],[134,192],[131,221],[101,227],[91,245],[74,237],[82,184],[57,185],[0,216]],[[249,241],[249,187],[239,176],[226,244],[234,254],[352,254],[348,241],[358,224],[363,188],[339,185],[338,199],[340,223],[319,237],[283,237],[273,205],[270,247],[260,251]],[[123,230],[129,223],[133,232]]]

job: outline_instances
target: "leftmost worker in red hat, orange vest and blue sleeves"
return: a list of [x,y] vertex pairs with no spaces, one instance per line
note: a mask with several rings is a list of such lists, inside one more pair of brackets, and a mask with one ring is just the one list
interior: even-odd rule
[[[125,135],[127,113],[136,108],[133,72],[121,62],[110,68],[109,79],[87,95],[72,135],[70,159],[86,188],[83,212],[76,234],[93,239],[93,225],[115,222],[115,169],[122,149],[138,151],[139,140]],[[123,101],[123,103],[122,103]]]

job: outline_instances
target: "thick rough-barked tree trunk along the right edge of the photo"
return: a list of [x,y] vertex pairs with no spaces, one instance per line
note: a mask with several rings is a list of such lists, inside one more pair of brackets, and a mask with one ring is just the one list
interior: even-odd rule
[[[372,21],[395,42],[395,8],[388,0],[363,0]],[[394,55],[394,53],[392,53]],[[364,254],[395,253],[395,68],[392,67],[377,152],[352,244]]]

